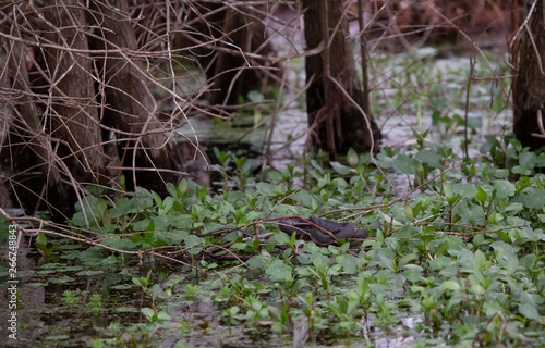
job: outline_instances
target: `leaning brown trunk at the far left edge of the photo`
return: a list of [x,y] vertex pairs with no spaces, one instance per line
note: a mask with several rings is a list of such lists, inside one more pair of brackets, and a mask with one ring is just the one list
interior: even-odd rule
[[[1,29],[4,34],[9,34],[12,37],[21,37],[16,26],[9,28],[7,25],[3,25]],[[73,198],[68,190],[68,186],[61,182],[61,174],[58,167],[60,159],[52,149],[49,136],[44,132],[44,126],[39,120],[41,113],[38,111],[35,100],[32,97],[33,94],[29,88],[31,84],[25,64],[25,53],[23,44],[16,40],[0,39],[0,79],[1,85],[5,87],[2,88],[3,96],[0,97],[0,100],[5,101],[1,105],[0,113],[4,121],[10,121],[8,124],[4,123],[7,128],[2,130],[4,132],[4,137],[8,136],[8,132],[10,136],[17,134],[25,144],[23,149],[17,145],[14,145],[16,148],[8,149],[7,147],[10,144],[5,144],[4,147],[3,140],[5,139],[2,137],[0,146],[2,146],[4,153],[1,153],[1,156],[2,158],[9,157],[8,160],[11,162],[12,169],[17,169],[17,166],[20,170],[27,169],[28,163],[26,161],[29,158],[32,162],[37,162],[36,165],[41,172],[43,183],[45,183],[45,197],[43,198],[51,213],[51,219],[63,220],[68,219],[64,214],[69,214],[72,210]],[[31,152],[27,149],[31,149]],[[25,156],[20,154],[25,151],[27,151]],[[23,199],[23,201],[20,200],[20,203],[27,209],[36,209],[41,195],[39,189],[34,191],[33,186],[28,183],[24,186],[19,186],[16,182],[16,179],[12,181],[12,187],[16,190],[23,189],[24,192],[22,194],[24,197],[29,197],[28,199]]]

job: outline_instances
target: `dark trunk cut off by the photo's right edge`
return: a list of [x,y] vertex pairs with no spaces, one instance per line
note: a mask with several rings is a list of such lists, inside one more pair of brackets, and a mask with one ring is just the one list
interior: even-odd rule
[[[519,47],[516,79],[513,132],[522,146],[537,150],[545,146],[545,23],[543,1],[537,1],[530,21],[530,33]],[[532,37],[530,37],[530,35]],[[537,55],[537,54],[538,55]]]

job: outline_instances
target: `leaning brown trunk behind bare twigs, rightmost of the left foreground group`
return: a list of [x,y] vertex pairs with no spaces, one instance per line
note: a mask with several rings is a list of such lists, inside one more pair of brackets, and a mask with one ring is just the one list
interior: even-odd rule
[[172,166],[157,119],[157,104],[146,85],[142,61],[124,53],[126,49],[137,49],[131,18],[121,15],[129,13],[129,5],[126,0],[95,4],[95,10],[101,14],[98,20],[101,29],[95,33],[99,38],[89,39],[90,45],[111,50],[105,57],[97,57],[97,65],[104,67],[100,75],[106,82],[100,87],[108,105],[104,122],[121,130],[116,134],[119,156],[124,167],[135,169],[124,171],[128,188],[138,185],[166,195],[166,182],[173,182],[175,177],[154,170]]

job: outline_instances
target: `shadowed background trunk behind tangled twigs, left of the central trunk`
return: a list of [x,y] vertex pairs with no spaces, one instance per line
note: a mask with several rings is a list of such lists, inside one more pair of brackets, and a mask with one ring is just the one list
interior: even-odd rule
[[[258,90],[267,80],[261,76],[265,70],[255,69],[266,66],[267,62],[243,57],[249,52],[262,55],[274,52],[270,42],[266,41],[266,28],[259,16],[263,16],[261,12],[244,5],[234,8],[202,1],[192,8],[192,24],[183,30],[187,34],[179,35],[174,46],[202,46],[192,51],[211,83],[210,105],[235,105],[240,96]],[[206,41],[210,44],[204,45]],[[278,65],[272,67],[278,69]]]

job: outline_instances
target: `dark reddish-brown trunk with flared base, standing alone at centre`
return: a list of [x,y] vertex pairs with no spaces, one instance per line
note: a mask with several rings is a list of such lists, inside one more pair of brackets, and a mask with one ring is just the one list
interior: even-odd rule
[[337,152],[350,148],[378,149],[380,130],[365,114],[362,85],[358,78],[352,42],[342,0],[303,0],[305,40],[308,49],[325,49],[306,58],[308,126],[315,148]]

